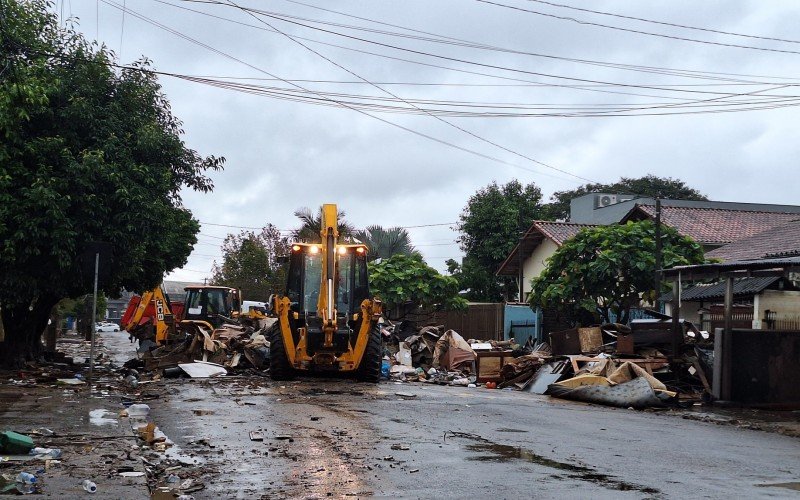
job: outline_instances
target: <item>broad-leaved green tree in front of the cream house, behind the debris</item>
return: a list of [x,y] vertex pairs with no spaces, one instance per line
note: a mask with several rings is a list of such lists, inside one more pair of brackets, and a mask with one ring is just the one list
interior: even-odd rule
[[[691,238],[662,226],[664,268],[700,264],[703,249]],[[555,307],[566,317],[627,323],[631,307],[656,298],[655,224],[651,221],[581,230],[548,259],[531,281],[531,307]]]

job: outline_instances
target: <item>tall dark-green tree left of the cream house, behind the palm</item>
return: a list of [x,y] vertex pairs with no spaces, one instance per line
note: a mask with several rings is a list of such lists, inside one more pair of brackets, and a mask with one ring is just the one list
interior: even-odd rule
[[460,265],[448,261],[462,290],[474,301],[496,302],[517,294],[513,278],[496,276],[500,264],[519,242],[522,231],[544,215],[542,192],[533,183],[492,182],[470,197],[457,229],[465,257]]

